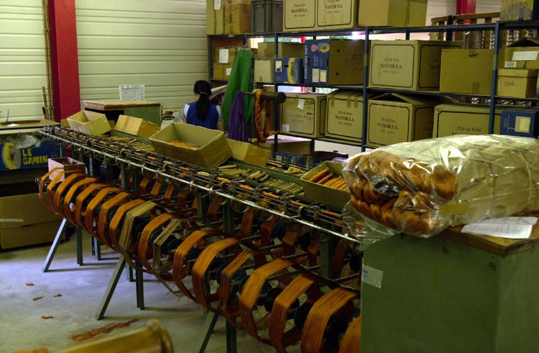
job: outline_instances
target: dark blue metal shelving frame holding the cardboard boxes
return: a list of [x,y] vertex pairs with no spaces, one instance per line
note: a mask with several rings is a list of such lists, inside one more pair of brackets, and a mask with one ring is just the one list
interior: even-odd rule
[[[414,90],[397,90],[397,89],[387,89],[387,88],[370,88],[368,87],[368,77],[369,77],[369,53],[370,53],[370,36],[374,34],[404,34],[405,39],[410,39],[410,34],[412,33],[433,33],[433,32],[444,32],[446,41],[453,40],[453,34],[455,32],[469,32],[469,31],[493,31],[493,62],[498,62],[498,53],[500,51],[501,35],[503,30],[531,30],[539,29],[539,21],[515,21],[515,22],[495,22],[495,23],[471,23],[471,24],[458,24],[458,25],[444,25],[444,26],[424,26],[424,27],[362,27],[362,28],[351,28],[348,30],[330,30],[330,31],[309,31],[309,32],[276,32],[276,33],[248,33],[248,34],[237,34],[237,35],[214,35],[209,36],[209,77],[210,81],[212,76],[212,58],[213,58],[213,38],[243,38],[245,44],[250,38],[273,38],[275,43],[275,53],[278,57],[278,43],[281,38],[290,38],[290,37],[336,37],[336,36],[350,36],[359,32],[359,34],[364,36],[365,40],[365,65],[363,68],[363,85],[357,86],[354,88],[349,87],[334,87],[327,85],[310,85],[310,84],[301,84],[295,85],[290,83],[262,83],[265,85],[274,85],[277,90],[281,86],[301,86],[301,87],[310,87],[310,88],[343,88],[346,90],[359,90],[363,92],[363,130],[361,143],[353,143],[346,140],[335,140],[331,139],[331,142],[341,143],[345,145],[360,145],[361,150],[368,148],[366,145],[367,141],[367,132],[368,132],[368,99],[372,93],[400,93],[400,94],[414,94],[418,96],[426,97],[453,97],[453,98],[477,98],[477,99],[488,99],[489,100],[489,133],[494,132],[494,117],[495,117],[495,106],[497,101],[513,101],[513,102],[531,102],[536,103],[539,101],[537,98],[513,98],[513,97],[501,97],[496,94],[496,83],[498,81],[498,65],[493,65],[491,72],[491,92],[490,94],[458,94],[458,93],[440,93],[439,91],[414,91]],[[276,119],[278,120],[278,119]],[[275,130],[278,131],[278,121],[275,124]],[[294,136],[293,134],[281,133],[287,136]],[[305,138],[305,137],[303,137]],[[274,134],[274,152],[278,150],[278,133]],[[312,139],[312,141],[327,141],[327,139],[319,138]],[[339,141],[339,142],[337,142]],[[312,145],[314,145],[312,143]]]

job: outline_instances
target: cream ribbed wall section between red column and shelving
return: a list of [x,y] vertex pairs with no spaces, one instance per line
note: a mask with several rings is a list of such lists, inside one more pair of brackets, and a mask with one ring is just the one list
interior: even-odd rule
[[144,84],[146,101],[178,110],[207,79],[205,1],[77,0],[81,99],[118,99]]

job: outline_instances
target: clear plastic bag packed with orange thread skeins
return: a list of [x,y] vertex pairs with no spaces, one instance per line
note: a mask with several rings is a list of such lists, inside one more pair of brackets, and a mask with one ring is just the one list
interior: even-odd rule
[[455,135],[397,143],[348,159],[343,176],[363,216],[428,237],[539,210],[539,141]]

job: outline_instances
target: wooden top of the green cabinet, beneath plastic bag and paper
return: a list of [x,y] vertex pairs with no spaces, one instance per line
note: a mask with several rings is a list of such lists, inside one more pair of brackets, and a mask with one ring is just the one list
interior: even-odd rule
[[[533,212],[525,216],[539,217],[539,212]],[[468,234],[461,232],[462,227],[460,225],[458,227],[448,228],[439,234],[439,236],[502,256],[537,248],[539,245],[539,222],[533,226],[529,239],[507,239],[496,236]]]

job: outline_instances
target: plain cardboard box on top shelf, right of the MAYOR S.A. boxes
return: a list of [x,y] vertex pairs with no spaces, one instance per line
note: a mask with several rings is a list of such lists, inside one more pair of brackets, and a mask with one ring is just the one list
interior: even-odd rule
[[358,23],[361,27],[424,27],[426,10],[427,0],[361,0]]

